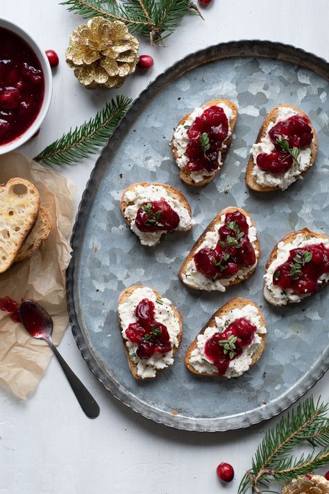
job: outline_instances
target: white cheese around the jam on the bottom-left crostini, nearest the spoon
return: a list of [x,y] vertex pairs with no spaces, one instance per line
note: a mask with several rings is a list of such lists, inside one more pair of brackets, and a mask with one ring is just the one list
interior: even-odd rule
[[149,299],[154,302],[155,305],[155,320],[165,324],[169,333],[169,339],[171,347],[177,347],[179,345],[178,336],[180,334],[180,321],[176,317],[171,302],[168,299],[161,298],[162,304],[156,302],[155,293],[151,288],[143,286],[142,288],[136,288],[133,293],[127,297],[123,304],[118,306],[118,314],[121,322],[121,334],[125,340],[126,347],[128,349],[129,358],[137,364],[137,375],[145,379],[147,377],[155,377],[156,371],[173,365],[174,357],[173,351],[166,354],[153,354],[150,359],[140,359],[136,355],[137,344],[132,343],[126,337],[126,329],[132,322],[137,322],[137,318],[134,314],[136,306],[142,299]]

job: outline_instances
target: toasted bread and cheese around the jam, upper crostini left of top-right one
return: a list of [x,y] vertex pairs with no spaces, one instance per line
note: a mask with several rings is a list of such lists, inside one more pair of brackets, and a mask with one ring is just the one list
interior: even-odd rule
[[[226,106],[230,111],[230,115],[231,115],[230,118],[228,119],[229,120],[228,137],[226,138],[226,140],[223,141],[223,144],[221,145],[221,149],[219,149],[221,158],[217,170],[214,170],[214,172],[205,172],[205,170],[200,170],[200,172],[189,172],[189,170],[185,170],[184,164],[182,162],[182,156],[183,157],[185,156],[185,152],[183,150],[183,147],[181,147],[180,143],[178,142],[178,134],[183,133],[183,142],[185,147],[186,141],[188,142],[188,136],[187,136],[187,131],[184,129],[187,122],[189,122],[189,120],[191,119],[191,115],[193,115],[193,112],[188,113],[187,115],[185,115],[185,117],[182,118],[182,120],[180,120],[174,132],[173,138],[171,140],[171,150],[174,156],[174,160],[176,161],[176,165],[180,167],[180,179],[182,179],[183,182],[187,183],[189,186],[195,186],[195,187],[205,186],[206,183],[211,182],[214,179],[214,176],[216,176],[220,172],[221,167],[223,166],[223,163],[226,159],[228,149],[230,149],[233,131],[235,128],[235,124],[237,123],[237,106],[235,106],[233,101],[230,101],[229,99],[214,99],[212,101],[208,101],[207,103],[203,104],[201,108],[206,109],[206,108],[210,108],[210,106],[216,106],[216,105],[223,106],[223,108],[225,108]],[[194,120],[191,121],[191,124],[193,123]]]

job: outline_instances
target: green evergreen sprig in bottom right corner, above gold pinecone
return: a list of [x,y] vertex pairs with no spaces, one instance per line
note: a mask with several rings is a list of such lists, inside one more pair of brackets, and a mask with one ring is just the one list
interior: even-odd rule
[[[261,486],[268,488],[271,481],[280,484],[329,463],[328,408],[328,404],[319,401],[314,404],[310,397],[267,431],[255,452],[251,469],[242,478],[238,494],[245,494],[248,488],[261,494]],[[294,458],[293,450],[305,443],[313,447],[312,452]]]

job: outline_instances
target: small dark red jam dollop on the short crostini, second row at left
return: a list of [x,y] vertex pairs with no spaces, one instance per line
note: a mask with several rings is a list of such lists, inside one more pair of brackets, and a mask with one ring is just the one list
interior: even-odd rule
[[137,211],[135,223],[140,231],[173,231],[178,227],[180,217],[165,201],[149,201]]

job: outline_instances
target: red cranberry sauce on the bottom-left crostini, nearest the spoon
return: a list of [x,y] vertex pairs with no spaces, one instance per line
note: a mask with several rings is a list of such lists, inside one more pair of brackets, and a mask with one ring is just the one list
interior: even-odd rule
[[126,337],[138,345],[136,355],[150,359],[153,354],[165,354],[172,349],[165,324],[155,320],[155,305],[149,299],[142,299],[135,308],[137,322],[131,322]]

